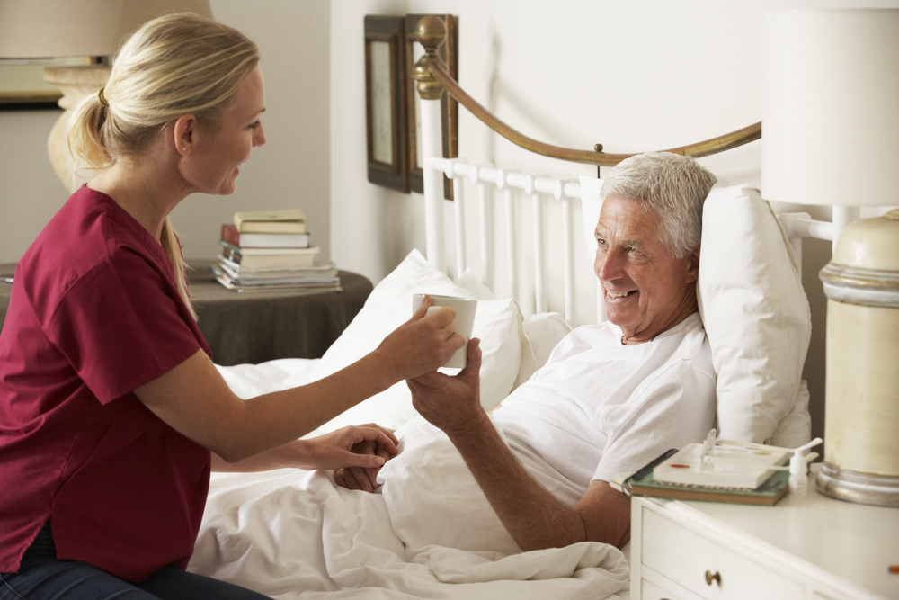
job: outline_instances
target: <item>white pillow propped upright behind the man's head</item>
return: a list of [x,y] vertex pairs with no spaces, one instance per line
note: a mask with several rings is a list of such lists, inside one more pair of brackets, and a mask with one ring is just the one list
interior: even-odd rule
[[806,443],[811,419],[800,380],[811,315],[793,247],[758,190],[738,185],[708,194],[698,292],[718,377],[718,433],[784,447]]

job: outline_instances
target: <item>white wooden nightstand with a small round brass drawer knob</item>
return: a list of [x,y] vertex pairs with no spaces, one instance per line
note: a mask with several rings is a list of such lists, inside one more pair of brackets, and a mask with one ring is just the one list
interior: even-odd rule
[[809,488],[776,506],[633,497],[631,596],[899,598],[899,574],[888,572],[899,563],[899,509],[825,497],[814,479]]

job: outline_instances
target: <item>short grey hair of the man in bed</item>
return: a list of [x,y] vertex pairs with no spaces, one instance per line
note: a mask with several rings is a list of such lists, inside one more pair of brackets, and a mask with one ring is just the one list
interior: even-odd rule
[[702,238],[702,205],[717,177],[691,157],[646,152],[616,165],[603,180],[600,198],[640,201],[661,219],[659,237],[673,258],[683,258]]

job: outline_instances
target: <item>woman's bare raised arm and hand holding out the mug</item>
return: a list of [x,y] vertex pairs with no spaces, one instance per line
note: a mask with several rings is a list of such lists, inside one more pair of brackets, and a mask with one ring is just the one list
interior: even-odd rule
[[224,461],[242,461],[292,443],[397,381],[446,363],[465,338],[456,333],[452,309],[425,316],[429,305],[425,300],[413,318],[357,363],[300,388],[240,399],[198,351],[135,394],[176,431]]

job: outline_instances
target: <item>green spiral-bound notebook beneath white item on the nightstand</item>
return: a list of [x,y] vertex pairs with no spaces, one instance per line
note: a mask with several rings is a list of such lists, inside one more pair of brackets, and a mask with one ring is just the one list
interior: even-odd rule
[[789,472],[786,470],[770,470],[769,474],[761,479],[761,483],[755,488],[732,487],[714,482],[710,483],[708,480],[704,484],[672,483],[663,482],[655,478],[654,471],[666,461],[676,460],[675,457],[678,453],[676,449],[664,452],[630,477],[621,474],[616,475],[610,481],[610,485],[628,496],[650,496],[677,500],[729,502],[764,506],[777,504],[780,498],[787,494]]

